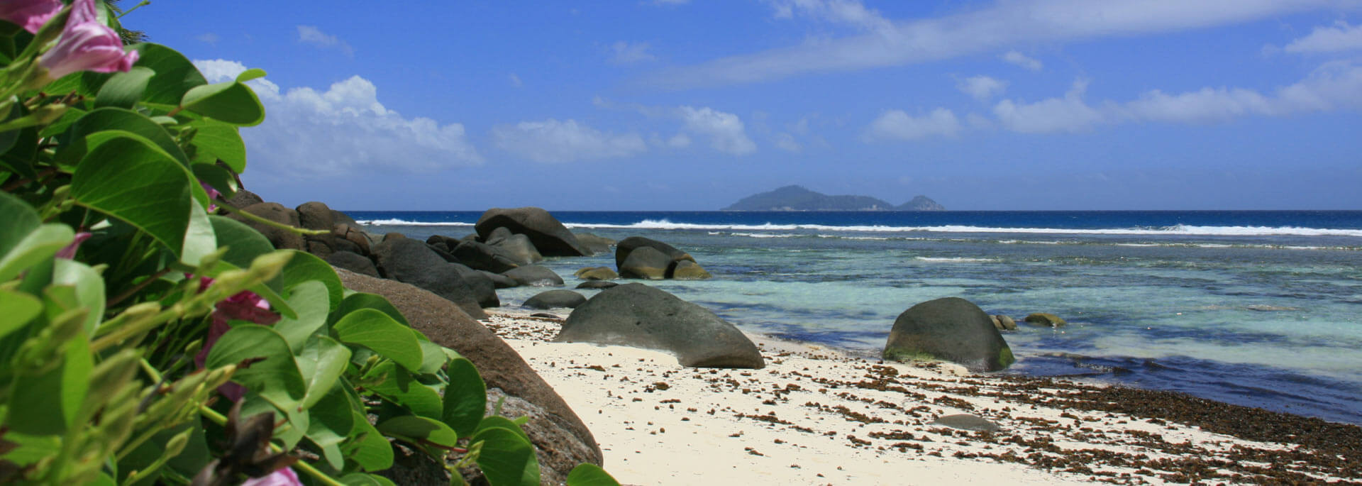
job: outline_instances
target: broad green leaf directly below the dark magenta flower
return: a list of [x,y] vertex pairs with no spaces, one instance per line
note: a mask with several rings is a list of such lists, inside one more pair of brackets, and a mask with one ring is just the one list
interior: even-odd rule
[[[263,361],[255,361],[262,359]],[[238,324],[222,335],[208,351],[208,369],[255,361],[237,368],[232,381],[260,393],[279,410],[297,410],[306,395],[306,384],[293,361],[293,351],[274,329],[256,324]]]

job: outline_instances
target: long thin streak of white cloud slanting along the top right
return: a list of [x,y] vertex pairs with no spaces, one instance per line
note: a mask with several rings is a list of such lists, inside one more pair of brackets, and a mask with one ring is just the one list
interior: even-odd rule
[[[794,15],[802,3],[778,7],[782,4],[790,5]],[[1333,4],[1335,0],[1007,0],[955,15],[889,20],[888,29],[869,27],[870,31],[849,37],[810,39],[699,65],[666,68],[646,80],[670,88],[752,83],[812,72],[928,63],[1024,44],[1204,29]],[[842,16],[844,22],[854,18]],[[873,18],[868,22],[865,25],[877,25]]]

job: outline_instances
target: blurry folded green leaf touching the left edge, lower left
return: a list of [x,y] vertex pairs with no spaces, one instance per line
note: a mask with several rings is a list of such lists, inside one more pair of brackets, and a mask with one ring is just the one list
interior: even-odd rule
[[79,334],[63,346],[61,365],[37,376],[19,376],[10,393],[5,425],[26,434],[61,434],[74,425],[94,361],[90,342]]

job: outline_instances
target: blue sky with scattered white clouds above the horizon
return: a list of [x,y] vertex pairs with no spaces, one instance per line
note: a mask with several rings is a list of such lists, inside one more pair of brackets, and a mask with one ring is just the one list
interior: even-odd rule
[[247,187],[342,210],[1362,210],[1362,1],[165,1],[264,68]]

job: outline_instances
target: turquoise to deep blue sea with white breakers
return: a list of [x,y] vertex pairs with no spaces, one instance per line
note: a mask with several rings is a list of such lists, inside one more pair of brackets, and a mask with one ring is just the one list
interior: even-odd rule
[[[481,215],[347,212],[415,238],[462,237]],[[1008,373],[1362,423],[1362,211],[553,214],[689,252],[712,280],[652,285],[746,331],[874,355],[904,309],[956,295],[1071,323],[1005,332]],[[572,287],[575,270],[614,260],[545,264]],[[519,305],[539,290],[498,294]]]

